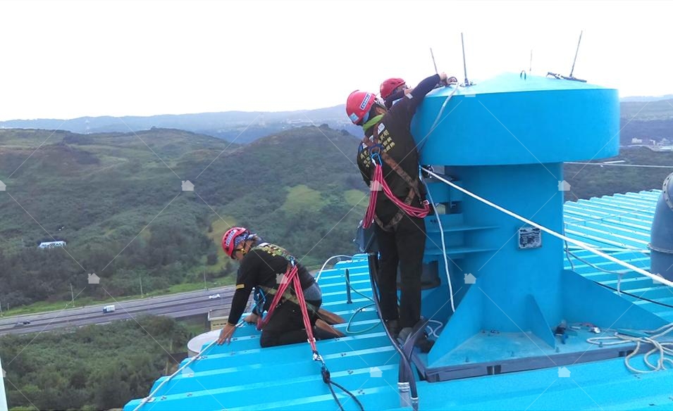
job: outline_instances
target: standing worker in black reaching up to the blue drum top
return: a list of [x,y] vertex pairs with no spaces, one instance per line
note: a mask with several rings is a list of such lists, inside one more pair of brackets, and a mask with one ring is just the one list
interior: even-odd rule
[[[346,112],[355,125],[364,129],[365,137],[357,153],[357,165],[364,182],[372,186],[374,162],[378,159],[385,184],[400,203],[407,208],[425,210],[409,215],[388,198],[377,196],[374,220],[375,233],[381,253],[379,288],[381,289],[381,316],[388,329],[405,341],[411,329],[421,318],[421,272],[426,241],[424,215],[429,210],[424,186],[419,180],[419,153],[410,131],[416,108],[426,94],[439,82],[445,82],[445,73],[432,75],[416,86],[390,109],[372,93],[353,91],[346,102]],[[422,215],[423,217],[418,217]],[[364,222],[371,223],[371,222]],[[402,292],[397,309],[397,267],[400,267]],[[433,342],[420,336],[416,345],[428,352]]]

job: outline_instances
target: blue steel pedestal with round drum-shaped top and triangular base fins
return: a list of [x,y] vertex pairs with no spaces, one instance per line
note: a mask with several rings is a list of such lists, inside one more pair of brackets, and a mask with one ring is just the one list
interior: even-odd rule
[[[464,189],[548,229],[563,231],[564,161],[619,153],[617,90],[548,77],[502,75],[426,97],[414,118],[421,163],[444,168]],[[469,93],[469,94],[467,94]],[[446,120],[445,120],[446,119]],[[435,129],[431,129],[437,123]],[[560,324],[657,329],[659,317],[563,267],[563,242],[474,198],[428,180],[447,236],[457,309],[445,285],[426,291],[425,317],[447,322],[416,364],[432,381],[537,369],[622,355],[583,339],[560,341]],[[436,219],[426,261],[443,272]],[[474,277],[475,284],[466,281]],[[460,288],[458,288],[460,287]],[[605,307],[612,307],[606,310]],[[490,330],[497,331],[491,333]],[[488,331],[488,332],[486,332]],[[586,338],[590,331],[581,330]],[[587,350],[589,350],[587,352]]]

